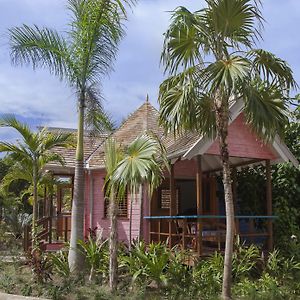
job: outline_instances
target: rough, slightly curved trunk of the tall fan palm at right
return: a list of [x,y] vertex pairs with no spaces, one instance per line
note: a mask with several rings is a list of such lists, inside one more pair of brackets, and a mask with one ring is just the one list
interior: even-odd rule
[[220,145],[220,156],[223,168],[223,185],[225,195],[226,211],[226,243],[224,272],[222,285],[222,299],[231,299],[231,281],[232,281],[232,255],[234,241],[234,204],[232,196],[229,151],[228,151],[228,123],[229,123],[229,105],[227,101],[216,101],[216,124]]

